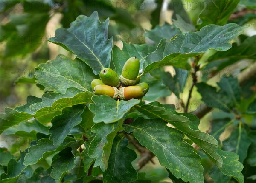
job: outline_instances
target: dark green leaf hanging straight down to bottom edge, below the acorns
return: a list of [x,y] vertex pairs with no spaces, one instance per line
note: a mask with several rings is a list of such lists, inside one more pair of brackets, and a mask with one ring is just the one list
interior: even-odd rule
[[103,172],[104,183],[131,183],[131,181],[137,180],[137,172],[131,165],[137,155],[133,150],[127,148],[127,145],[127,139],[115,137],[108,160],[108,169]]

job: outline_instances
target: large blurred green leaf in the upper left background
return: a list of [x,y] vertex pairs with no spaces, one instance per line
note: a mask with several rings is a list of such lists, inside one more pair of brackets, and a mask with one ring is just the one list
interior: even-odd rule
[[34,51],[42,43],[48,21],[47,12],[12,15],[11,21],[1,27],[1,41],[7,39],[3,56],[25,56]]

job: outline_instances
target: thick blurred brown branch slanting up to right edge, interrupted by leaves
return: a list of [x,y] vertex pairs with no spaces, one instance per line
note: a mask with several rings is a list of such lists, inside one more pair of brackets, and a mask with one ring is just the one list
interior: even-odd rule
[[[251,64],[247,69],[243,70],[237,77],[239,86],[242,86],[248,80],[253,79],[253,77],[255,76],[256,76],[256,62],[253,62],[253,64]],[[198,118],[202,118],[211,110],[212,110],[212,107],[208,107],[206,104],[203,104],[192,114],[196,115]]]

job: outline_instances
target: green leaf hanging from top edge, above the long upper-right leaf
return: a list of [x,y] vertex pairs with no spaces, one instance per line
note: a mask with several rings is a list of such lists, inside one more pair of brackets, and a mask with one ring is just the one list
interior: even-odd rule
[[205,25],[224,25],[233,13],[240,0],[204,0],[204,9],[199,14],[201,24],[197,28]]

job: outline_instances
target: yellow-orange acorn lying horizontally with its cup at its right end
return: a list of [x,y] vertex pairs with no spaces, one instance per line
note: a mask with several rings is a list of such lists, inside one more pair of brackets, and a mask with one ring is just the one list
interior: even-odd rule
[[116,87],[111,87],[104,84],[99,84],[93,89],[95,95],[107,95],[113,99],[117,99],[119,96],[119,90]]

